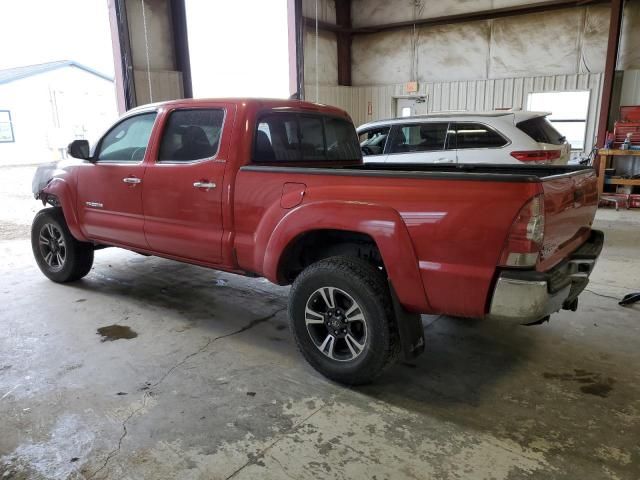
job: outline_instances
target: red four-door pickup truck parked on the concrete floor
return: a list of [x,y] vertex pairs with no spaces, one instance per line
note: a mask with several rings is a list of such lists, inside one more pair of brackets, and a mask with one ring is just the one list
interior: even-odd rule
[[136,108],[40,168],[32,247],[70,282],[116,246],[293,284],[291,330],[334,380],[424,349],[421,313],[536,323],[577,308],[600,254],[594,171],[364,165],[342,110],[292,100]]

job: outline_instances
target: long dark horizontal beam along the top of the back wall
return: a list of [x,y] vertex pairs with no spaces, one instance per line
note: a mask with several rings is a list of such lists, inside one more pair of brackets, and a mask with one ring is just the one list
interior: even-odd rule
[[[352,35],[362,35],[367,33],[378,33],[390,30],[400,30],[404,28],[433,27],[436,25],[452,25],[456,23],[466,23],[480,20],[491,20],[495,18],[515,17],[519,15],[529,15],[532,13],[549,12],[566,8],[584,7],[598,3],[609,3],[610,0],[548,0],[545,2],[531,3],[492,10],[482,10],[478,12],[461,13],[457,15],[445,15],[434,18],[421,18],[417,20],[407,20],[404,22],[386,23],[382,25],[371,25],[366,27],[346,28],[341,25],[334,25],[328,22],[318,22],[318,28],[336,33],[350,33]],[[315,19],[304,17],[306,25],[315,27]]]

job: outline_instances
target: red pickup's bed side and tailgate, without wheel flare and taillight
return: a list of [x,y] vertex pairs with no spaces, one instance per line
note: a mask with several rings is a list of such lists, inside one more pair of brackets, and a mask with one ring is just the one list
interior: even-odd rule
[[[336,229],[359,222],[384,229],[390,223],[386,213],[380,212],[393,211],[411,237],[429,311],[481,316],[511,224],[525,203],[541,194],[545,237],[536,270],[547,271],[590,233],[597,207],[591,168],[247,165],[240,168],[236,180],[237,257],[242,268],[255,269],[264,257],[264,248],[256,247],[254,240],[258,229],[275,229],[282,217],[294,218],[291,210],[310,211],[314,204],[324,205],[322,214],[305,214],[305,221],[311,222],[309,228],[321,228],[327,219],[342,222]],[[382,210],[362,214],[360,219],[349,213],[354,206]],[[265,222],[271,219],[267,210],[272,212],[272,226]]]

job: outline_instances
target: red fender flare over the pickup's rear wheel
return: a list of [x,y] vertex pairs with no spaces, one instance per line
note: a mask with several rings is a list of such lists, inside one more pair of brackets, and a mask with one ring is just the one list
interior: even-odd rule
[[[289,211],[267,237],[263,275],[280,283],[278,269],[284,253],[300,235],[314,230],[343,230],[369,235],[382,256],[389,280],[401,304],[413,312],[430,311],[409,231],[390,207],[353,201],[320,201]],[[260,232],[258,232],[260,233]],[[257,238],[265,238],[258,234]]]

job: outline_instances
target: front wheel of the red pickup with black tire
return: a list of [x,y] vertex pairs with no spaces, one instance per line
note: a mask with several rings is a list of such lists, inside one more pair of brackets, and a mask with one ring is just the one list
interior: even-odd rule
[[[52,238],[57,241],[51,242]],[[36,214],[31,249],[42,273],[57,283],[79,280],[93,266],[93,245],[71,235],[60,208],[45,208]]]

